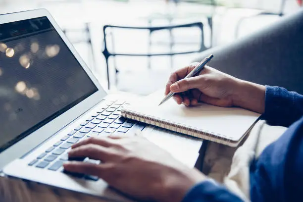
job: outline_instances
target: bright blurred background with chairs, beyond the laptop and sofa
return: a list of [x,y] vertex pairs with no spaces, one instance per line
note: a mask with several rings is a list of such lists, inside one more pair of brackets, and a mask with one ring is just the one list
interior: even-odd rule
[[0,14],[48,9],[104,89],[148,95],[203,50],[301,6],[302,0],[0,0]]

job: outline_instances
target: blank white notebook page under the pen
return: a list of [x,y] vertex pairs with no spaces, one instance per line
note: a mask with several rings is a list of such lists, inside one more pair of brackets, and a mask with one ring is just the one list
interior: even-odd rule
[[178,105],[173,98],[158,106],[163,97],[163,92],[157,92],[127,109],[136,114],[162,119],[163,122],[197,128],[231,141],[239,141],[260,116],[238,107],[218,107],[204,103],[187,107]]

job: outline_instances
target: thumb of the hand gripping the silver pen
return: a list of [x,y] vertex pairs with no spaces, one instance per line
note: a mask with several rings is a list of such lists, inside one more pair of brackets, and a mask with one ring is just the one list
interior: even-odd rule
[[170,91],[174,93],[181,93],[190,89],[201,88],[203,86],[203,76],[196,76],[182,79],[170,86]]

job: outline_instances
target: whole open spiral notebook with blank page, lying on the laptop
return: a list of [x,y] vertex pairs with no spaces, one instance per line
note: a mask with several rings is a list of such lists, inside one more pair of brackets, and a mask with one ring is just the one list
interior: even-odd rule
[[125,118],[160,128],[236,147],[258,120],[260,114],[238,107],[209,104],[187,107],[173,99],[158,106],[163,93],[157,93],[122,108]]

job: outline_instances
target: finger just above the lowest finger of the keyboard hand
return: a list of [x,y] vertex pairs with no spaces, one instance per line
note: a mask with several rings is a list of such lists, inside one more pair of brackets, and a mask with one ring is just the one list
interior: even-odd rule
[[88,144],[72,149],[68,152],[68,157],[89,157],[96,160],[107,161],[112,157],[112,152],[108,148],[99,145]]

